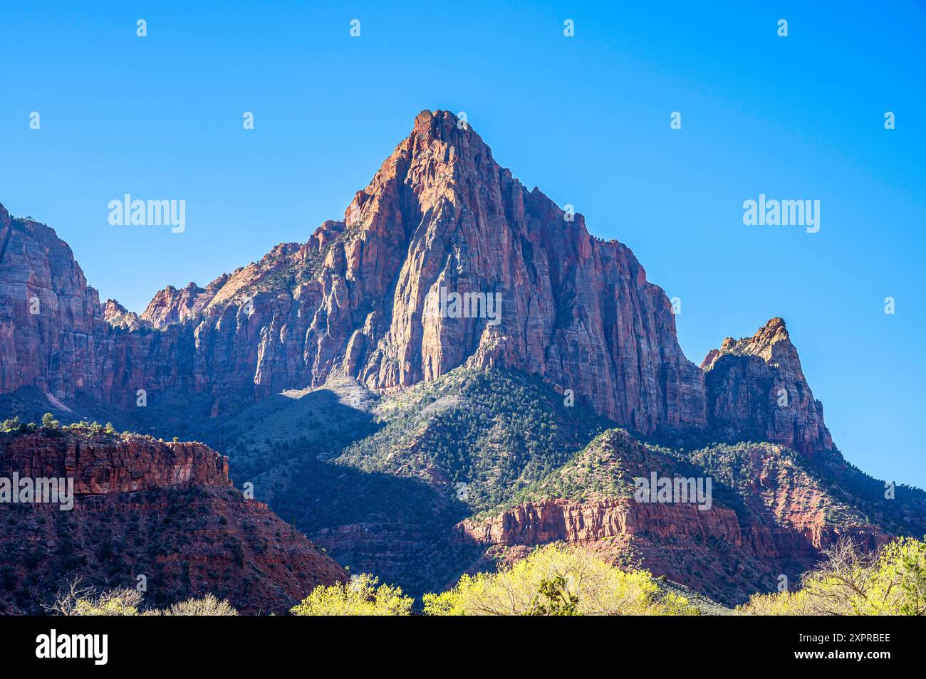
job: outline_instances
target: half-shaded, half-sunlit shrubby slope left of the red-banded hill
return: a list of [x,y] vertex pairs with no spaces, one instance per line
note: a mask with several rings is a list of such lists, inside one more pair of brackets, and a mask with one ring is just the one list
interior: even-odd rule
[[[250,475],[258,499],[352,573],[412,593],[440,589],[480,553],[453,539],[459,520],[512,498],[607,426],[515,372],[459,368],[379,401],[355,389],[309,392],[279,413],[245,411],[222,426],[245,450],[225,450],[236,481]],[[289,416],[311,412],[315,399],[314,416]]]

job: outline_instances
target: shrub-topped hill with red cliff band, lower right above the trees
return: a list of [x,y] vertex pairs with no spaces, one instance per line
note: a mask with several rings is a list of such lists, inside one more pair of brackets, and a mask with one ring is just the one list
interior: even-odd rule
[[[710,477],[709,509],[635,500],[632,479],[652,472]],[[461,522],[457,536],[490,548],[486,560],[502,562],[532,545],[574,542],[613,562],[639,560],[655,574],[733,604],[774,590],[782,574],[797,583],[840,537],[868,549],[889,539],[890,526],[837,494],[807,458],[780,445],[672,451],[608,430],[507,507]]]

